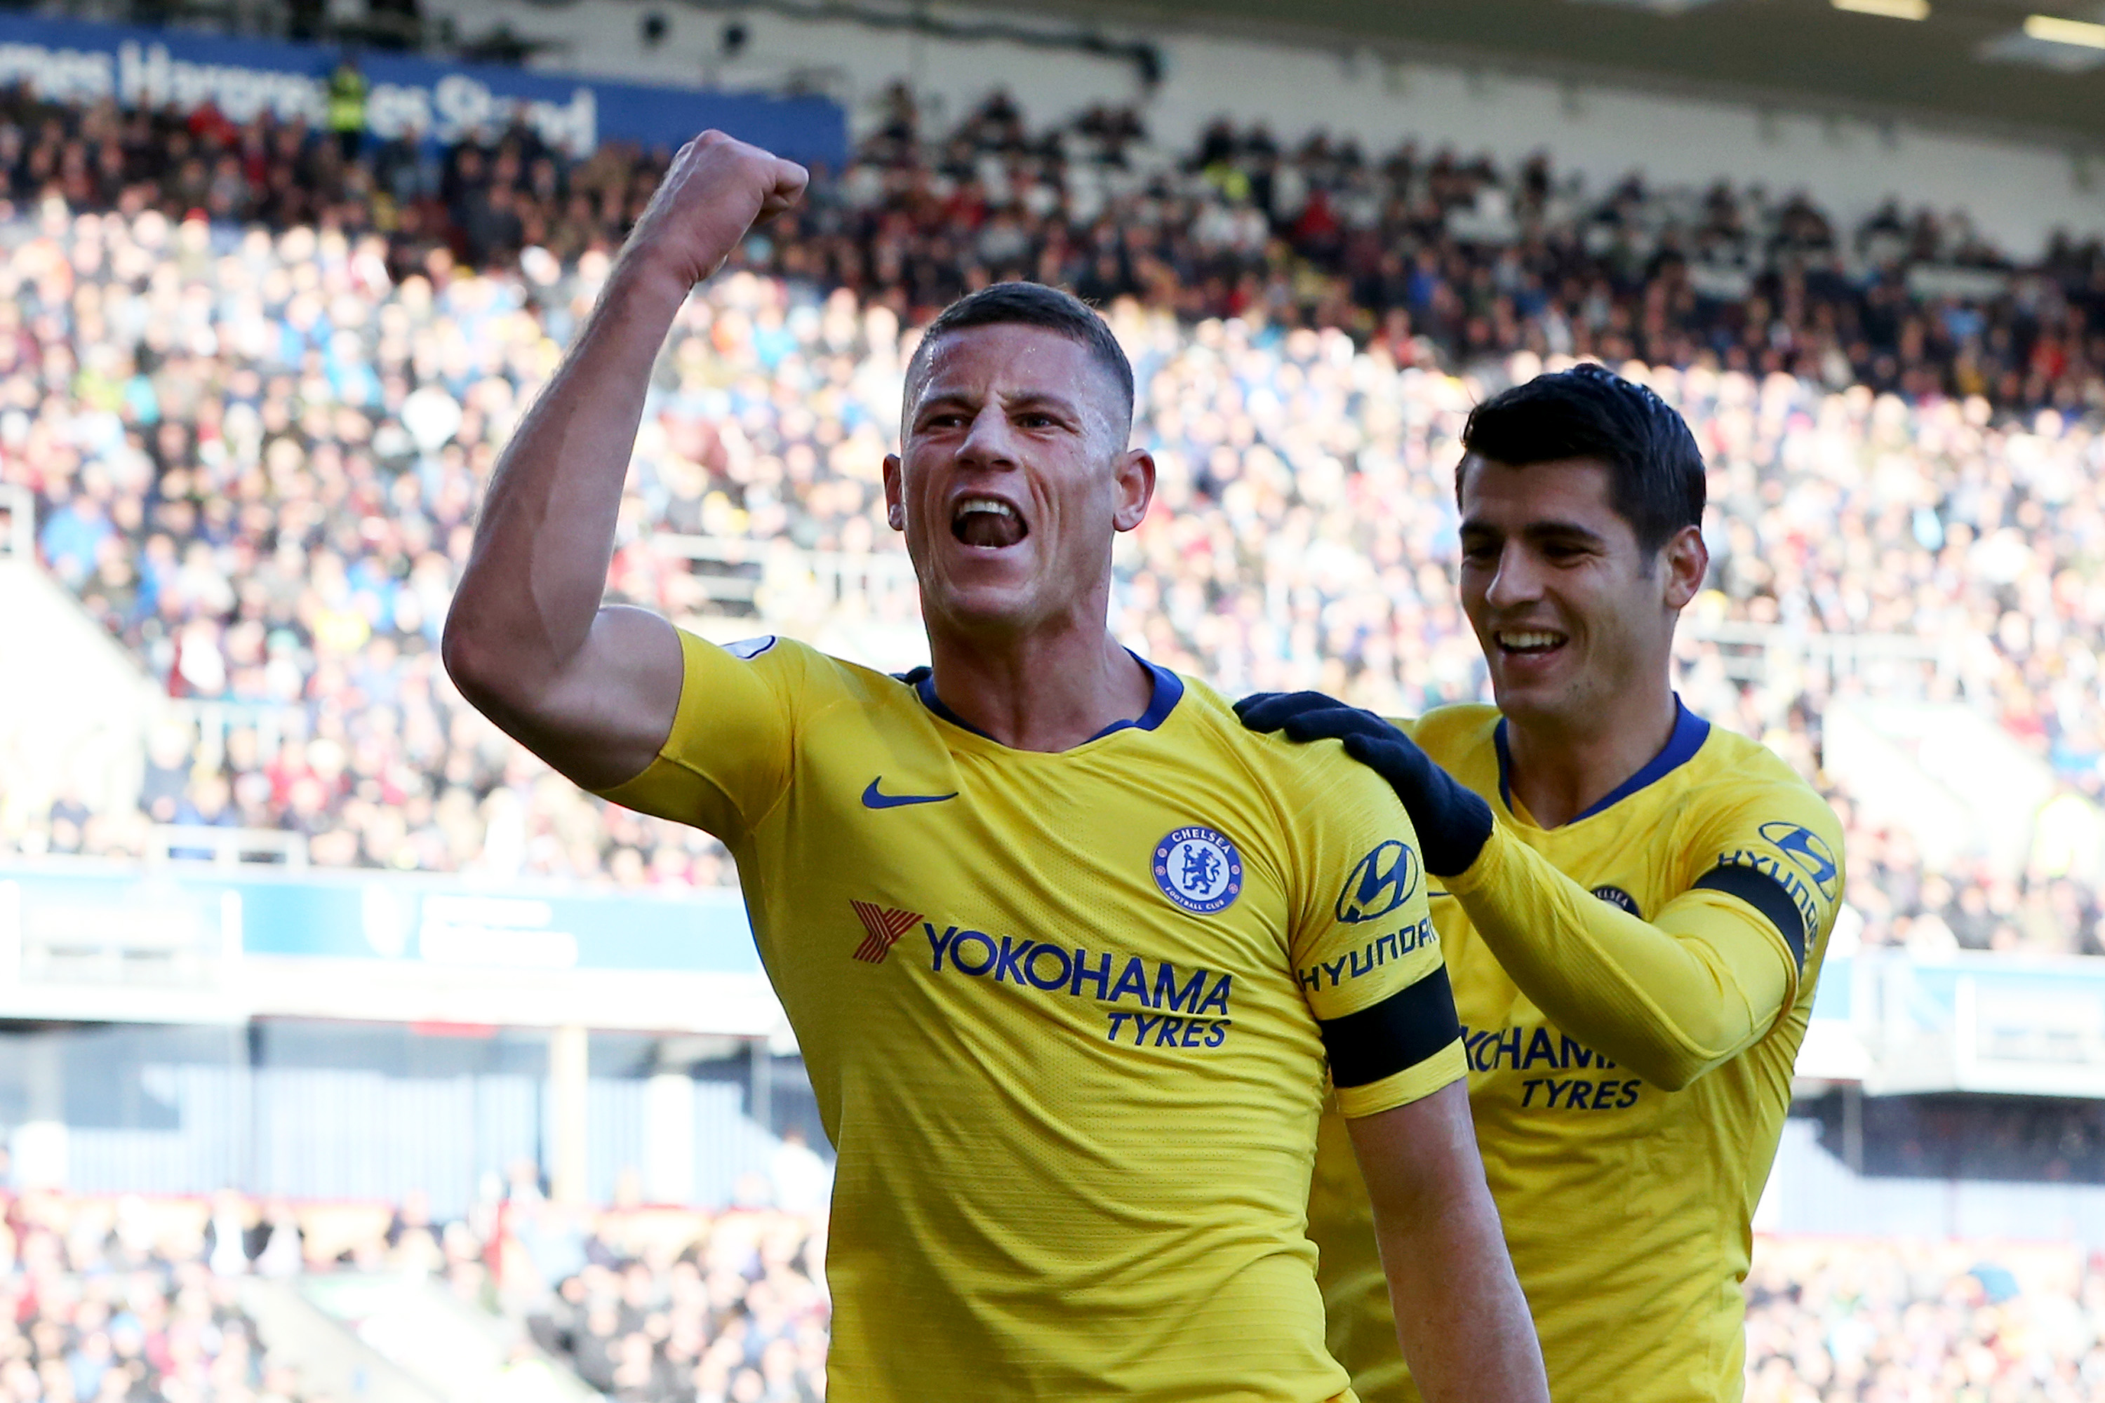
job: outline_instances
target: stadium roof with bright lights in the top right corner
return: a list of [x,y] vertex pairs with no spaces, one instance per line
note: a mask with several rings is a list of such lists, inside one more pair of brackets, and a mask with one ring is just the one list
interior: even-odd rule
[[1322,0],[1292,19],[1276,0],[994,2],[2105,145],[2094,0]]

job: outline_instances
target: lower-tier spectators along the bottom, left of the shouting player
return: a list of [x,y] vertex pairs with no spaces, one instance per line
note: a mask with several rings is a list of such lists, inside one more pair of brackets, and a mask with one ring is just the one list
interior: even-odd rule
[[[0,1399],[324,1403],[259,1342],[240,1283],[385,1273],[516,1323],[507,1371],[539,1350],[615,1403],[819,1403],[823,1256],[823,1214],[573,1209],[530,1178],[455,1220],[419,1195],[389,1207],[23,1193],[0,1228]],[[516,1382],[488,1397],[566,1397]]]

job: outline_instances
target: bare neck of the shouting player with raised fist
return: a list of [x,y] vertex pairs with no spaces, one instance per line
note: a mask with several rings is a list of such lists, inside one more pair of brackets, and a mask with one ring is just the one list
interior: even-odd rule
[[935,694],[1013,751],[1069,751],[1118,721],[1139,719],[1154,675],[1105,627],[962,637],[928,629]]

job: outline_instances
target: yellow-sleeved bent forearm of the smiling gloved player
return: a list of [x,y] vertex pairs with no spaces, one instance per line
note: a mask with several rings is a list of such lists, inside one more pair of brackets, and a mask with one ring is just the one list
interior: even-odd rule
[[1756,913],[1705,896],[1642,921],[1505,829],[1446,888],[1562,1031],[1667,1090],[1743,1052],[1791,997],[1791,970]]

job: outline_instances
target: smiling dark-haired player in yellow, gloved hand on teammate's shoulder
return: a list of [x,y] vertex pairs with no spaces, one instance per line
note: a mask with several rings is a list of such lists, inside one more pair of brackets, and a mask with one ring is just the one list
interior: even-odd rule
[[[1343,740],[1425,837],[1478,1148],[1551,1397],[1730,1401],[1840,827],[1669,686],[1709,560],[1682,419],[1579,366],[1478,406],[1463,444],[1461,597],[1499,705],[1394,726],[1320,694],[1238,711]],[[1309,1203],[1330,1344],[1368,1403],[1402,1403],[1419,1390],[1343,1148],[1326,1125]]]

